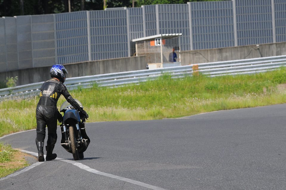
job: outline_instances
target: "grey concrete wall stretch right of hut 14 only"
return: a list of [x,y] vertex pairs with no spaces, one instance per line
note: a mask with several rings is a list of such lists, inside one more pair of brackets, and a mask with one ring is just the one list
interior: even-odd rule
[[[261,55],[259,53],[261,52]],[[286,55],[286,43],[192,50],[181,52],[182,65]]]

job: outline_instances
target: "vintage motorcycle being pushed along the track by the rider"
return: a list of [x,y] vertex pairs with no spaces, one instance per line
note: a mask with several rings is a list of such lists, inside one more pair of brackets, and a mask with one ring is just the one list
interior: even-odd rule
[[[74,99],[83,108],[77,99]],[[60,125],[62,132],[61,145],[66,151],[72,153],[74,160],[83,159],[83,152],[86,151],[90,139],[86,134],[85,118],[71,104],[65,101],[60,106],[63,112],[63,123]]]

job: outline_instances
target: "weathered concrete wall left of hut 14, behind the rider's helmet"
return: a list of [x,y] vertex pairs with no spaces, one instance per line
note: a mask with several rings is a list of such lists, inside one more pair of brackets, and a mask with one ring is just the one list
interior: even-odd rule
[[[74,63],[64,65],[68,70],[70,77],[80,77],[87,75],[99,75],[113,72],[124,72],[146,69],[145,56],[106,59],[100,61],[90,61],[83,63]],[[52,65],[51,65],[52,66]],[[30,69],[21,69],[10,72],[0,73],[0,81],[5,81],[6,77],[18,76],[17,86],[46,81],[50,78],[49,67],[38,67]]]

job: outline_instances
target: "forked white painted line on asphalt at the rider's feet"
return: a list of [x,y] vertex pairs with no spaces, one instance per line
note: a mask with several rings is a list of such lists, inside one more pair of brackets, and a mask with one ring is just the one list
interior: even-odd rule
[[[36,152],[30,152],[30,151],[27,151],[27,150],[21,150],[21,149],[18,149],[19,151],[21,152],[25,152],[25,153],[28,153],[28,154],[31,154],[31,155],[34,155],[36,157],[38,157],[38,153]],[[46,155],[44,155],[46,157]],[[70,163],[74,166],[77,166],[79,167],[80,169],[83,169],[83,170],[86,170],[88,172],[91,172],[91,173],[94,173],[94,174],[98,174],[98,175],[102,175],[102,176],[105,176],[105,177],[110,177],[110,178],[114,178],[116,180],[121,180],[121,181],[125,181],[125,182],[128,182],[128,183],[132,183],[132,184],[135,184],[135,185],[138,185],[138,186],[141,186],[141,187],[146,187],[148,189],[154,189],[154,190],[167,190],[167,189],[163,189],[161,187],[157,187],[157,186],[153,186],[153,185],[150,185],[150,184],[147,184],[147,183],[143,183],[143,182],[140,182],[140,181],[136,181],[136,180],[131,180],[131,179],[128,179],[128,178],[125,178],[125,177],[120,177],[120,176],[117,176],[117,175],[113,175],[113,174],[108,174],[108,173],[105,173],[105,172],[100,172],[96,169],[92,169],[82,163],[79,163],[79,162],[75,162],[75,161],[72,161],[72,160],[66,160],[66,159],[63,159],[63,158],[56,158],[55,160],[60,160],[62,162],[66,162],[66,163]],[[14,177],[18,174],[21,174],[23,172],[26,172],[32,168],[34,168],[35,166],[38,166],[40,165],[41,163],[44,163],[44,162],[36,162],[34,164],[32,164],[31,166],[28,166],[27,168],[19,171],[19,172],[15,172],[11,175],[8,175],[6,177],[3,177],[1,178],[0,180],[5,180],[9,177]]]

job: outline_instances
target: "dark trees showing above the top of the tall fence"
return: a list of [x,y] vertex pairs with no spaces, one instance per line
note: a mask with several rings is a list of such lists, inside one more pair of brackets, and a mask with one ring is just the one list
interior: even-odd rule
[[[68,12],[69,0],[0,0],[0,17]],[[149,4],[182,4],[217,0],[134,0],[135,7]],[[71,11],[103,10],[103,0],[70,0]],[[81,7],[81,5],[83,7]],[[132,0],[106,0],[107,8],[132,7]]]

